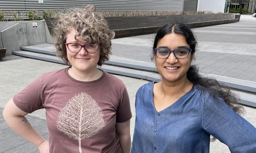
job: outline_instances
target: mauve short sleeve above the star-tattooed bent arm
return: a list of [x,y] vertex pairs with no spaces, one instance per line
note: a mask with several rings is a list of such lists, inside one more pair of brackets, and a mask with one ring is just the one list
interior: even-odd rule
[[41,82],[43,75],[13,97],[15,105],[24,112],[32,113],[43,108]]

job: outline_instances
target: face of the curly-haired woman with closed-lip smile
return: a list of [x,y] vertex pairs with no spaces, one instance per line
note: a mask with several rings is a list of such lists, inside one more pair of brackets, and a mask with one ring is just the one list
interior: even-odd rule
[[[77,43],[81,45],[87,45],[87,41],[81,39],[81,37],[77,37],[77,41],[75,40],[76,30],[73,28],[69,31],[66,39],[66,43]],[[97,69],[97,63],[100,58],[100,47],[98,47],[95,53],[88,53],[84,47],[78,53],[72,53],[68,47],[66,46],[67,57],[69,63],[72,65],[72,68],[84,72],[91,72]]]

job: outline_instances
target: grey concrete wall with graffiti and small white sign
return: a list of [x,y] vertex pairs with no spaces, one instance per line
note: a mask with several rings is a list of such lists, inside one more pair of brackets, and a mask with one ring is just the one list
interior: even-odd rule
[[[37,22],[37,29],[33,29],[33,22]],[[3,39],[1,47],[6,48],[6,55],[11,55],[12,51],[20,50],[20,46],[46,43],[44,20],[0,22],[0,27]],[[1,39],[0,42],[2,43]]]

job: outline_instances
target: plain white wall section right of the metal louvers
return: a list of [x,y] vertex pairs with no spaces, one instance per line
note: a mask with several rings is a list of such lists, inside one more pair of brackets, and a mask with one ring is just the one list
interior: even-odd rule
[[197,11],[212,11],[224,13],[225,0],[198,0]]

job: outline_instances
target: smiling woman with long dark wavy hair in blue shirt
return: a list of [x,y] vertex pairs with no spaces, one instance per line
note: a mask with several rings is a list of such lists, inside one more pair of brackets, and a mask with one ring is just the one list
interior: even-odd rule
[[157,32],[153,58],[162,81],[137,91],[132,153],[209,153],[210,135],[231,152],[256,152],[256,129],[239,115],[239,98],[191,65],[196,47],[185,24]]

